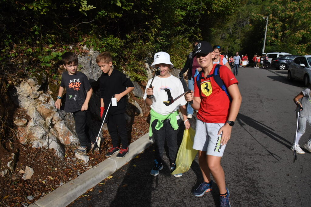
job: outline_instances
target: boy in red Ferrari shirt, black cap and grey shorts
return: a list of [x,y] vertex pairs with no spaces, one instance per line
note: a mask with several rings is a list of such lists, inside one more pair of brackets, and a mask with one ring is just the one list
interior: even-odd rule
[[230,194],[226,188],[225,173],[220,161],[230,139],[234,120],[239,113],[242,97],[237,79],[226,66],[220,66],[219,75],[232,101],[216,83],[213,77],[216,64],[213,64],[212,51],[211,44],[206,41],[198,43],[195,47],[194,61],[203,69],[202,79],[199,79],[201,88],[198,88],[195,79],[194,97],[191,93],[185,95],[186,101],[193,100],[191,106],[198,110],[193,149],[199,151],[199,165],[204,179],[193,194],[203,196],[205,192],[212,190],[212,174],[219,188],[220,206],[230,206]]

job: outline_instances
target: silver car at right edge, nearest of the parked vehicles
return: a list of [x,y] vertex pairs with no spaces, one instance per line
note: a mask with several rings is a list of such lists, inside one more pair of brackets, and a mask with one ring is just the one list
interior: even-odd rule
[[287,80],[299,79],[304,81],[307,87],[311,80],[311,55],[296,57],[290,64],[287,72]]

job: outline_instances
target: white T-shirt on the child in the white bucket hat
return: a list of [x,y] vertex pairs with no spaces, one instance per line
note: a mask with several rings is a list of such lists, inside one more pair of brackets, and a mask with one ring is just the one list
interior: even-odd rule
[[[152,79],[148,81],[146,90],[149,87],[151,80]],[[175,76],[170,75],[168,78],[160,78],[156,76],[152,82],[152,86],[153,86],[154,97],[153,97],[153,103],[150,107],[153,110],[155,110],[157,113],[161,115],[168,115],[178,110],[179,106],[183,106],[187,104],[187,101],[185,100],[184,96],[180,97],[179,99],[177,99],[174,103],[172,103],[169,106],[166,106],[163,103],[163,101],[167,101],[168,99],[167,92],[164,90],[164,88],[169,88],[173,99],[184,93],[183,85],[181,81]],[[146,90],[145,90],[145,94],[143,97],[144,100],[146,100],[147,98]],[[176,116],[176,118],[179,119],[179,115]]]

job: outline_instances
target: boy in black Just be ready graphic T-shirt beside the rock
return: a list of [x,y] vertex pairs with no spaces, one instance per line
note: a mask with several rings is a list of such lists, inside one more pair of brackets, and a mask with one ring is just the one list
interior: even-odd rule
[[86,155],[87,150],[91,149],[95,143],[95,135],[86,123],[88,104],[93,89],[86,75],[77,71],[78,57],[76,54],[65,52],[62,60],[67,72],[62,74],[55,106],[57,109],[60,109],[62,105],[61,99],[66,88],[65,111],[72,113],[76,123],[76,133],[80,141],[80,147],[75,150],[75,153]]

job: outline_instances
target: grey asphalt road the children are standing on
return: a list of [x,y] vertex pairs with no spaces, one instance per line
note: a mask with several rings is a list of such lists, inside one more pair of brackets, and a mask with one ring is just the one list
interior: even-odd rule
[[[232,206],[310,206],[311,153],[297,155],[293,163],[289,149],[296,129],[292,100],[303,88],[300,82],[287,82],[286,74],[274,69],[239,69],[243,101],[222,159]],[[191,193],[202,182],[197,159],[179,178],[170,175],[166,156],[164,169],[151,176],[153,159],[151,146],[72,206],[219,205],[216,184],[202,197]]]

